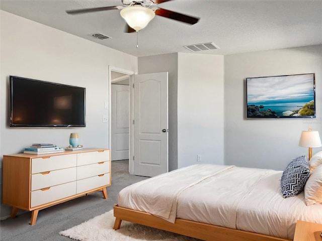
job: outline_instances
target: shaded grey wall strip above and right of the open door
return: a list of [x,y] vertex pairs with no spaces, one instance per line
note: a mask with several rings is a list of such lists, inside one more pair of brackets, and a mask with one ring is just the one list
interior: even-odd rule
[[138,58],[138,73],[168,72],[169,89],[169,170],[178,168],[178,54],[162,54]]

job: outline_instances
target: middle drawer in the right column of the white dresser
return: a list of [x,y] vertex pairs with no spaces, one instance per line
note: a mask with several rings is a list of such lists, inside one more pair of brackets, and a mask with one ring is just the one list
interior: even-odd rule
[[110,162],[99,162],[77,167],[77,180],[110,172]]

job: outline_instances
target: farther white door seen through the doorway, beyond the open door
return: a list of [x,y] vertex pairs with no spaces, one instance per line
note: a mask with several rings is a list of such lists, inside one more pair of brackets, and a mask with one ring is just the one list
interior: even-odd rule
[[111,159],[129,159],[129,86],[111,84]]

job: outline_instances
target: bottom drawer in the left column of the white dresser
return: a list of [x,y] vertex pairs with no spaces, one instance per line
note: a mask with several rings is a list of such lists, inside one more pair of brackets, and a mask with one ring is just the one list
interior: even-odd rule
[[69,197],[76,194],[76,181],[31,192],[31,207]]

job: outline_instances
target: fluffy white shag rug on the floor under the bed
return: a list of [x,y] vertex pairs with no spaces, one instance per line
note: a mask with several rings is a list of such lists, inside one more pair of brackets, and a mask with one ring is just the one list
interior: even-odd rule
[[198,241],[199,239],[179,235],[122,221],[121,228],[113,229],[115,217],[113,210],[96,216],[59,234],[81,241]]

